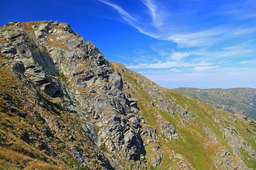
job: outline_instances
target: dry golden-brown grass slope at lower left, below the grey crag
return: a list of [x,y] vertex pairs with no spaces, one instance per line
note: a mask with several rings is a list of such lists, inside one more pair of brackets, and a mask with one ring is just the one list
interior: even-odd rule
[[[5,57],[0,55],[0,63],[6,62]],[[78,165],[76,160],[69,155],[64,144],[68,138],[65,134],[65,128],[62,129],[62,138],[55,135],[56,131],[49,131],[53,137],[53,140],[50,140],[41,131],[45,128],[45,123],[40,118],[32,117],[30,114],[26,114],[26,117],[20,117],[13,111],[6,111],[8,99],[17,104],[14,111],[49,114],[49,119],[60,116],[64,124],[69,124],[69,122],[74,123],[75,126],[81,124],[78,115],[67,113],[45,97],[43,92],[42,97],[52,109],[34,108],[36,107],[32,102],[34,96],[27,91],[26,86],[24,89],[21,87],[22,82],[10,72],[10,67],[11,65],[0,66],[0,169],[86,169],[86,167]],[[11,97],[5,99],[5,95]],[[26,100],[23,100],[20,95],[26,96]],[[72,127],[71,124],[69,125]],[[28,135],[25,134],[26,130]],[[82,134],[80,135],[82,136]],[[33,141],[27,136],[36,136],[36,140]],[[60,157],[49,155],[43,149],[36,149],[36,145],[42,145],[45,142],[51,143],[52,151]],[[85,151],[87,149],[84,148]]]

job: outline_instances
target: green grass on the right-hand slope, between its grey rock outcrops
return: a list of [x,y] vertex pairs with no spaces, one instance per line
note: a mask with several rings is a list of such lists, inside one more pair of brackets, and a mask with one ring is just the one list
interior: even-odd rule
[[[120,73],[122,72],[120,69],[120,66],[123,67],[122,65],[115,62],[111,62],[111,65],[115,68],[115,71],[118,71]],[[179,104],[180,106],[185,108],[186,103],[188,105],[187,111],[191,110],[198,116],[198,118],[195,118],[194,121],[185,122],[185,125],[187,127],[183,126],[180,123],[177,113],[175,113],[175,116],[172,117],[168,113],[158,110],[153,106],[147,107],[146,102],[152,101],[152,99],[150,98],[150,95],[143,90],[143,88],[141,87],[141,83],[137,83],[137,78],[134,75],[131,75],[130,73],[131,70],[128,70],[128,72],[124,72],[123,74],[125,75],[125,77],[123,77],[123,79],[124,81],[133,82],[136,85],[135,90],[137,92],[139,91],[141,96],[140,101],[138,102],[138,106],[142,111],[143,116],[148,121],[148,124],[158,129],[158,138],[161,134],[159,134],[159,127],[157,126],[154,115],[154,112],[156,111],[159,112],[167,121],[173,124],[179,135],[178,139],[174,139],[169,143],[164,140],[163,135],[162,138],[159,138],[159,142],[162,144],[162,147],[164,148],[162,151],[164,159],[160,164],[159,169],[163,169],[172,165],[172,160],[168,159],[168,154],[170,154],[171,150],[185,156],[185,158],[196,169],[214,169],[215,167],[213,166],[213,155],[215,154],[217,148],[220,147],[221,145],[224,145],[229,150],[229,152],[232,153],[232,150],[228,145],[227,141],[225,140],[225,138],[222,137],[219,124],[215,123],[212,120],[212,115],[215,114],[219,115],[219,117],[222,117],[222,115],[224,115],[228,122],[225,123],[225,121],[220,118],[220,124],[233,124],[235,127],[237,127],[237,129],[240,129],[239,133],[248,142],[248,144],[250,144],[254,150],[256,149],[256,145],[254,142],[255,131],[252,131],[252,134],[244,133],[245,127],[250,126],[248,122],[237,117],[236,115],[230,115],[228,112],[225,112],[223,110],[216,110],[212,107],[212,105],[208,103],[198,102],[196,99],[180,95],[180,93],[173,90],[163,90],[165,91],[169,98],[175,99],[174,102],[176,104]],[[138,78],[141,76],[138,73],[136,73],[136,75]],[[232,122],[228,119],[228,116],[234,117],[238,120],[238,122]],[[216,134],[216,136],[220,140],[220,144],[209,142],[209,140],[205,138],[205,135],[202,132],[203,124],[206,124],[209,128],[211,128],[211,130]],[[252,126],[250,127],[252,128]],[[205,147],[207,147],[207,149],[205,149]],[[246,160],[246,153],[243,153],[243,155],[243,160],[248,167],[256,167],[255,161],[248,161]]]

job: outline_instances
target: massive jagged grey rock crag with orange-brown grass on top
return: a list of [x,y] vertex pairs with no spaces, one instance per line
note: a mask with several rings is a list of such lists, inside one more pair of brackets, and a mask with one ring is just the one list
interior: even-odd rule
[[[0,35],[7,41],[0,44],[1,53],[10,58],[14,74],[46,95],[62,98],[60,107],[84,118],[82,128],[90,131],[95,145],[106,146],[120,159],[145,164],[143,140],[150,138],[156,147],[152,165],[160,164],[156,130],[139,113],[138,99],[122,91],[121,76],[92,42],[86,42],[68,24],[48,21],[11,22],[1,28]],[[60,79],[60,73],[68,83]],[[93,124],[99,128],[98,134]],[[164,129],[175,133],[170,123]],[[69,152],[88,165],[79,150]]]

